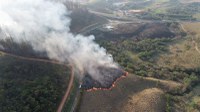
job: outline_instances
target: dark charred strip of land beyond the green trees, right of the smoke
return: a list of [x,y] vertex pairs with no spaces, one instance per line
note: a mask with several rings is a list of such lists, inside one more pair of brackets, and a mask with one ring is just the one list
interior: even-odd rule
[[179,30],[178,23],[113,23],[111,26],[113,27],[111,30],[102,27],[88,32],[87,35],[95,35],[97,40],[126,38],[142,40],[145,38],[175,38],[185,35],[184,32]]

